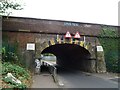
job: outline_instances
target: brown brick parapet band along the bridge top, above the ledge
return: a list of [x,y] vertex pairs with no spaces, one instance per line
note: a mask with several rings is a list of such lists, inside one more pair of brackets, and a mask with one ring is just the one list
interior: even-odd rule
[[[75,26],[74,24],[78,25]],[[46,33],[66,33],[69,30],[72,34],[79,31],[80,34],[83,35],[98,35],[101,31],[101,25],[30,18],[10,17],[7,19],[4,17],[3,30],[23,30]]]

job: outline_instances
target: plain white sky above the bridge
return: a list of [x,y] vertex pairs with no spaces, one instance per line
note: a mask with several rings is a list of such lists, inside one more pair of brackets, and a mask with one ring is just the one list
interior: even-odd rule
[[118,26],[120,0],[21,0],[12,16]]

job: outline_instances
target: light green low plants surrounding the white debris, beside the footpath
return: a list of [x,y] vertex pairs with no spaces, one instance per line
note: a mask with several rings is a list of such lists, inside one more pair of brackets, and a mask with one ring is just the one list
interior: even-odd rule
[[[17,84],[9,78],[5,78],[7,73],[12,73],[17,79],[19,79],[22,84]],[[10,62],[3,62],[2,64],[2,80],[7,83],[10,88],[26,88],[27,85],[25,81],[30,80],[30,72],[16,64],[11,64]],[[4,88],[4,86],[3,86]]]

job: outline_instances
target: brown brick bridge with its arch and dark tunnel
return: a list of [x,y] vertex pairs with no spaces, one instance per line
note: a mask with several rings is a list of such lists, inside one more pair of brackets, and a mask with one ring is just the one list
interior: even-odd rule
[[[21,17],[3,17],[2,23],[3,44],[11,48],[17,46],[16,52],[29,67],[34,57],[52,53],[60,66],[106,72],[104,51],[97,48],[101,46],[98,36],[105,25]],[[69,40],[64,38],[67,31],[72,35]],[[73,38],[77,31],[80,40]],[[35,50],[27,50],[28,43],[34,43]]]

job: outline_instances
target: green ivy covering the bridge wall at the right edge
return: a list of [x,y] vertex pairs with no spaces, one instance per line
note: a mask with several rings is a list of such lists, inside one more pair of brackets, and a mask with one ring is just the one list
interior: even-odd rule
[[104,48],[105,61],[108,72],[120,72],[118,66],[118,32],[115,27],[103,27],[100,43]]

